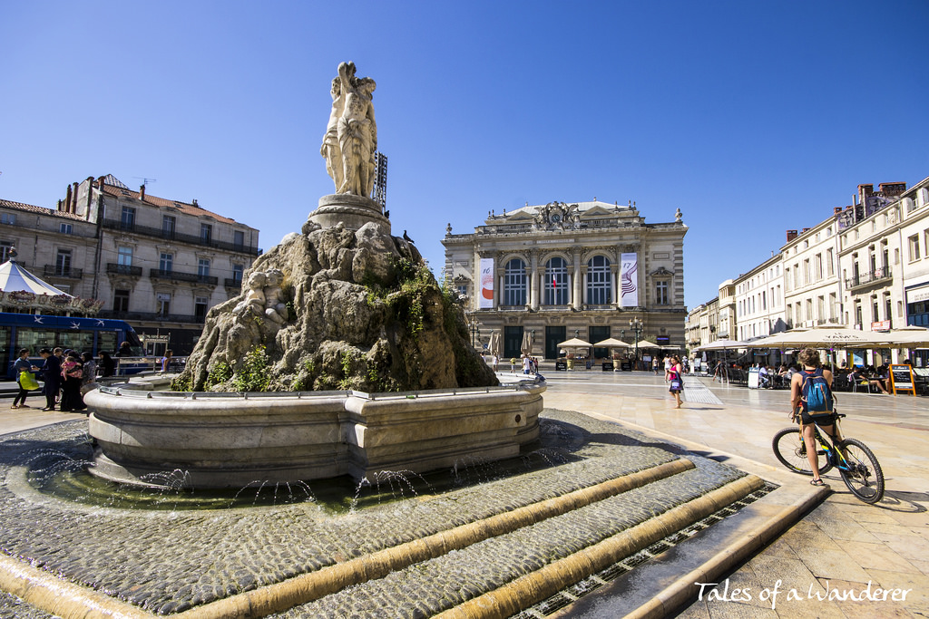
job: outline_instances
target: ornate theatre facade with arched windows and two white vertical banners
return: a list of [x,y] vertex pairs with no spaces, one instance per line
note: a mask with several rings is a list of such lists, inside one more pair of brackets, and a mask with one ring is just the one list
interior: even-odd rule
[[488,213],[474,233],[452,234],[449,226],[444,275],[465,299],[475,343],[496,331],[504,357],[519,356],[527,335],[532,355],[544,358],[574,337],[630,344],[637,337],[680,350],[685,234],[679,210],[672,222],[646,224],[633,204],[527,204]]

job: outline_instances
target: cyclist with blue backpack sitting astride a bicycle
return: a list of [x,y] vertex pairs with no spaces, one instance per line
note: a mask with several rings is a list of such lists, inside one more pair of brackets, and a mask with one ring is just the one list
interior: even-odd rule
[[[802,350],[797,355],[797,361],[803,369],[791,379],[791,419],[800,416],[804,445],[807,445],[806,459],[809,460],[813,471],[813,481],[810,484],[823,485],[819,478],[819,458],[815,446],[816,439],[813,436],[813,423],[833,439],[838,439],[833,436],[835,415],[832,412],[832,372],[823,369],[819,353],[814,348]],[[812,448],[810,445],[813,445]]]

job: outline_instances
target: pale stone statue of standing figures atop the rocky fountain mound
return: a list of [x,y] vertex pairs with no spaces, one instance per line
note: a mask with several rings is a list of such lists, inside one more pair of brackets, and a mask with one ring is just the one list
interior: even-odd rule
[[339,64],[333,80],[333,108],[322,138],[320,152],[335,192],[369,198],[374,187],[374,151],[377,123],[372,97],[377,84],[370,77],[356,77],[355,63]]

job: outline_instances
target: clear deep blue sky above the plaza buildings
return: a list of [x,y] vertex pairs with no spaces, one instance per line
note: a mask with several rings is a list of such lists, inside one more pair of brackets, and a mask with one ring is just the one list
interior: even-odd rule
[[440,240],[552,200],[680,208],[687,305],[860,183],[929,175],[929,3],[0,0],[0,198],[114,174],[261,231],[333,192],[342,60],[377,82],[387,208]]

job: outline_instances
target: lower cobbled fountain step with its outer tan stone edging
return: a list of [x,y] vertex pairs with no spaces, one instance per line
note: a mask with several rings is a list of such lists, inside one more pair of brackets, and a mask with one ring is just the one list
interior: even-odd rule
[[[638,476],[651,477],[648,484],[626,484],[635,487],[620,493],[586,489],[582,492],[599,497],[270,616],[379,617],[385,609],[403,617],[511,616],[764,484],[754,476],[721,482],[683,462],[689,464],[677,460],[656,467],[664,468],[660,473],[643,471]],[[672,475],[663,474],[672,470]],[[566,505],[574,502],[559,498]],[[553,511],[542,503],[529,509],[536,506]]]

